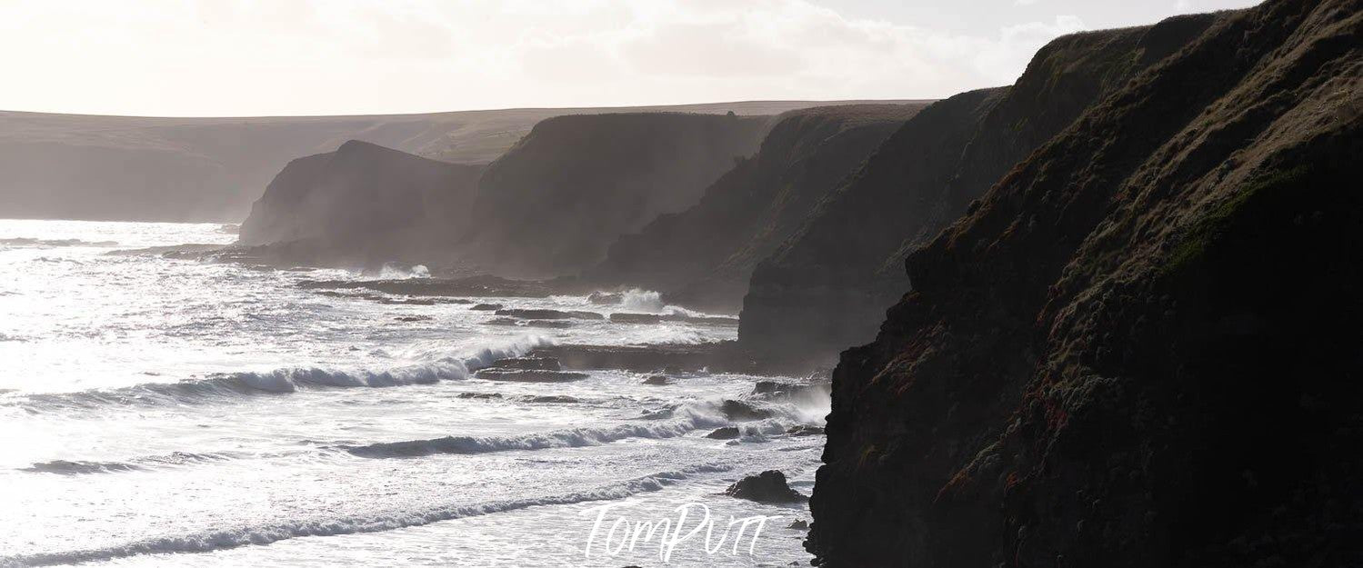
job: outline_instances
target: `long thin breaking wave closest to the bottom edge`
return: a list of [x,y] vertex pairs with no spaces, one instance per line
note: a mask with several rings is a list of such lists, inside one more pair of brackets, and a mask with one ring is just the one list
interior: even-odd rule
[[440,520],[461,519],[468,516],[491,515],[506,511],[523,509],[537,505],[570,505],[585,501],[604,501],[626,499],[638,493],[660,490],[668,485],[688,479],[695,475],[724,473],[732,470],[721,463],[706,463],[684,467],[676,471],[660,471],[650,475],[601,485],[581,492],[557,496],[541,496],[527,499],[510,499],[476,504],[442,504],[418,511],[378,512],[371,515],[354,515],[342,518],[301,519],[294,522],[281,522],[244,527],[225,527],[211,531],[153,537],[142,541],[128,542],[116,546],[68,550],[59,553],[38,553],[23,556],[0,556],[0,565],[52,565],[91,563],[113,558],[125,558],[139,554],[159,553],[202,553],[219,549],[237,548],[244,545],[266,545],[298,537],[331,537],[339,534],[379,533],[394,528],[414,527]]

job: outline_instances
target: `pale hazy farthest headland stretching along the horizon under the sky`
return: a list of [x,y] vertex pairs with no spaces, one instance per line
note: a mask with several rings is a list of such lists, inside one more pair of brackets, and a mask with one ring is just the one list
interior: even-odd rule
[[[806,101],[641,106],[637,112],[777,114]],[[0,110],[0,218],[241,221],[290,159],[358,139],[454,163],[489,163],[560,114],[507,109],[431,114],[153,119]]]

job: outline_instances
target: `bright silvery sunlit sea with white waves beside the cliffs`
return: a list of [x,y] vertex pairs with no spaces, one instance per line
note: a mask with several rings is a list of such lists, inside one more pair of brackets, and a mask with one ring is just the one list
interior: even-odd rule
[[[808,519],[803,505],[722,492],[780,469],[808,494],[823,437],[784,432],[822,424],[826,399],[755,402],[773,417],[713,440],[736,425],[718,406],[758,377],[472,373],[540,345],[698,343],[732,339],[732,326],[489,326],[469,304],[297,286],[421,271],[129,252],[228,244],[229,229],[0,221],[0,565],[807,565],[804,531],[788,527]],[[673,309],[646,291],[622,306],[470,300]],[[615,507],[587,549],[604,504]],[[658,538],[615,556],[602,546],[616,519],[676,523],[684,504],[709,507],[721,550],[705,549],[703,531],[667,564]],[[687,511],[683,533],[703,515]],[[755,515],[780,519],[720,546],[731,518]]]

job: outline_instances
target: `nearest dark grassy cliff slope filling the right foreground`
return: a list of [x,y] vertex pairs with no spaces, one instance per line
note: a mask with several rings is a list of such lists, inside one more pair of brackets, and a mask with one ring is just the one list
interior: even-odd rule
[[1363,3],[1217,14],[908,259],[823,565],[1363,563]]

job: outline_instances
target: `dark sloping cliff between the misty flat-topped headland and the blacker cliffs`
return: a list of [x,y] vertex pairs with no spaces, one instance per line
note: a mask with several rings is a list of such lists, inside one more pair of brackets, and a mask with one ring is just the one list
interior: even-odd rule
[[705,309],[736,309],[758,260],[923,106],[823,106],[780,116],[758,153],[699,203],[620,237],[586,278],[661,290]]

